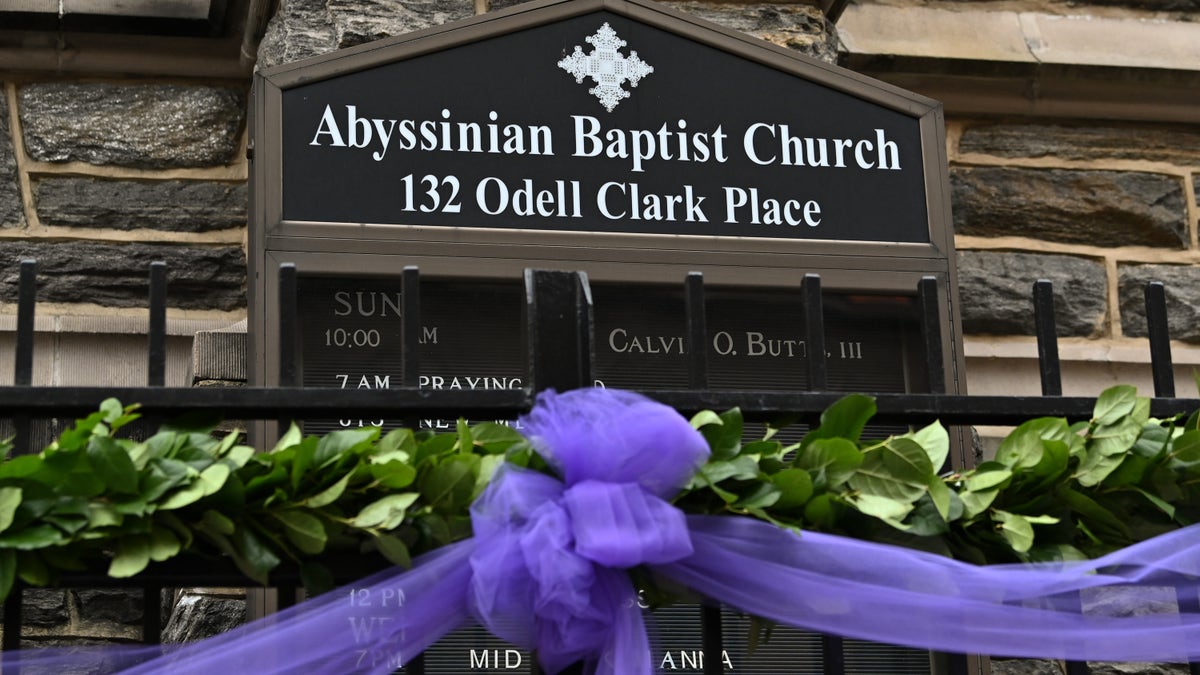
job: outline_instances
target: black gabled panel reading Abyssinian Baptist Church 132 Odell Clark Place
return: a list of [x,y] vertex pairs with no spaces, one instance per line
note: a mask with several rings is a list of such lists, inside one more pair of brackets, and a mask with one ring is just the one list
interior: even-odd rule
[[284,220],[929,241],[917,119],[608,11],[282,104]]

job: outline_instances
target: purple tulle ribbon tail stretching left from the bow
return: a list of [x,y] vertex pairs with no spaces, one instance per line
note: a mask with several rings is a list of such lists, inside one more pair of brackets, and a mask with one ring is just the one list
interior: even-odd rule
[[221,635],[186,645],[5,652],[6,669],[132,674],[392,673],[469,617],[474,540],[416,558]]

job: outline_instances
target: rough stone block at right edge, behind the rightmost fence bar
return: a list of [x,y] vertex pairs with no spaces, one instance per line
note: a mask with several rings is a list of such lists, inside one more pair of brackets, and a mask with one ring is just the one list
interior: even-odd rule
[[1166,329],[1172,340],[1200,342],[1200,268],[1188,265],[1121,265],[1117,293],[1121,331],[1145,338],[1146,285],[1163,282],[1166,295]]

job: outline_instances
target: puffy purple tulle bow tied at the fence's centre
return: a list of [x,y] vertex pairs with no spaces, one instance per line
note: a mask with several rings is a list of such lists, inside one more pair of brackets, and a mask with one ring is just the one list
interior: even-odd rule
[[472,507],[476,619],[536,647],[552,673],[581,659],[600,674],[652,673],[624,571],[691,555],[686,519],[665,497],[708,444],[671,408],[605,389],[545,393],[522,424],[563,480],[506,467]]

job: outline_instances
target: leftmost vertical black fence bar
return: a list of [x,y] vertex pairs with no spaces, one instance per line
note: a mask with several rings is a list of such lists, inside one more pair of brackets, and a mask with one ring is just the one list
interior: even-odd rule
[[[17,345],[13,354],[12,382],[17,387],[29,387],[34,383],[34,312],[37,305],[37,262],[20,261],[20,275],[17,286]],[[29,416],[12,420],[13,454],[32,452],[32,430]],[[17,651],[20,649],[23,596],[20,581],[16,581],[4,602],[4,640],[0,650]],[[0,661],[2,663],[2,661]]]

